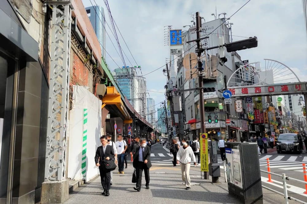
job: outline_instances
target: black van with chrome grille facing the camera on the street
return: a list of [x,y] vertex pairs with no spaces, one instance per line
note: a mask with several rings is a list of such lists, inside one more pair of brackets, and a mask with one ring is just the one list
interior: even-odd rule
[[293,133],[280,134],[277,139],[277,153],[281,152],[296,152],[301,154],[301,136]]

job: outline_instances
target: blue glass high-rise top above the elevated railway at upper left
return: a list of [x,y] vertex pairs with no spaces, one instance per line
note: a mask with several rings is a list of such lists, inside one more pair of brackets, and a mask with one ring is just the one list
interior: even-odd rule
[[103,7],[91,6],[85,8],[85,10],[97,35],[97,39],[100,43],[101,54],[103,58],[105,58],[106,51],[103,48],[105,48],[106,46],[106,30],[105,30],[106,20],[104,18]]

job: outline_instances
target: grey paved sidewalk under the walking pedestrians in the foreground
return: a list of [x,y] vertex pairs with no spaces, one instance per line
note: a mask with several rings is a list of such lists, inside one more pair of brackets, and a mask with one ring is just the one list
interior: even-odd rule
[[[223,169],[221,169],[223,170]],[[153,166],[150,168],[150,189],[145,189],[145,178],[142,179],[140,192],[133,189],[131,183],[133,167],[131,163],[125,174],[113,174],[113,185],[110,196],[101,195],[102,187],[100,177],[91,183],[84,184],[70,194],[65,203],[240,203],[236,198],[228,195],[227,183],[220,177],[220,183],[212,184],[211,177],[204,180],[200,177],[200,167],[191,167],[190,175],[193,186],[185,190],[182,185],[180,167]],[[144,175],[144,174],[143,174]],[[284,198],[271,191],[263,189],[264,203],[282,203]],[[289,202],[292,203],[292,202]]]

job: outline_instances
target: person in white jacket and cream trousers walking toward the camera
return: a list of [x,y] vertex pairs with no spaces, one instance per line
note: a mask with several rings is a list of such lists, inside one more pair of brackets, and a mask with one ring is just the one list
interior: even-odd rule
[[[180,162],[182,182],[185,182],[185,189],[190,190],[191,179],[190,179],[190,166],[191,161],[196,166],[196,159],[191,147],[188,147],[186,142],[182,142],[182,145],[177,153],[177,164]],[[184,184],[184,183],[183,183]]]

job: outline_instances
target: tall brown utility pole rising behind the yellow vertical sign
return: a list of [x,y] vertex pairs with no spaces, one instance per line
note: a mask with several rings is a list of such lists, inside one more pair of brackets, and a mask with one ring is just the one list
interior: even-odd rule
[[[199,90],[199,106],[200,106],[200,123],[201,123],[201,133],[206,133],[206,126],[205,126],[205,108],[204,108],[204,83],[203,83],[203,75],[202,72],[202,61],[200,59],[201,54],[205,51],[202,48],[202,45],[200,43],[200,30],[201,28],[201,17],[199,15],[199,12],[196,12],[196,53],[197,53],[197,65],[198,65],[198,84],[200,87]],[[206,54],[206,52],[205,52]],[[207,67],[207,61],[206,61],[206,67]],[[204,179],[209,179],[209,172],[204,172]]]

